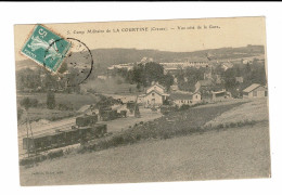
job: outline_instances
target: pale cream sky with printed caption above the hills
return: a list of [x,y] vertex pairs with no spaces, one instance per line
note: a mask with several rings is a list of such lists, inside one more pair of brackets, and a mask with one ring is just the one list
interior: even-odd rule
[[[226,47],[245,47],[247,44],[266,46],[265,17],[43,25],[63,38],[80,40],[89,49],[136,48],[190,52]],[[26,58],[20,51],[31,35],[34,27],[34,24],[14,26],[16,61]]]

